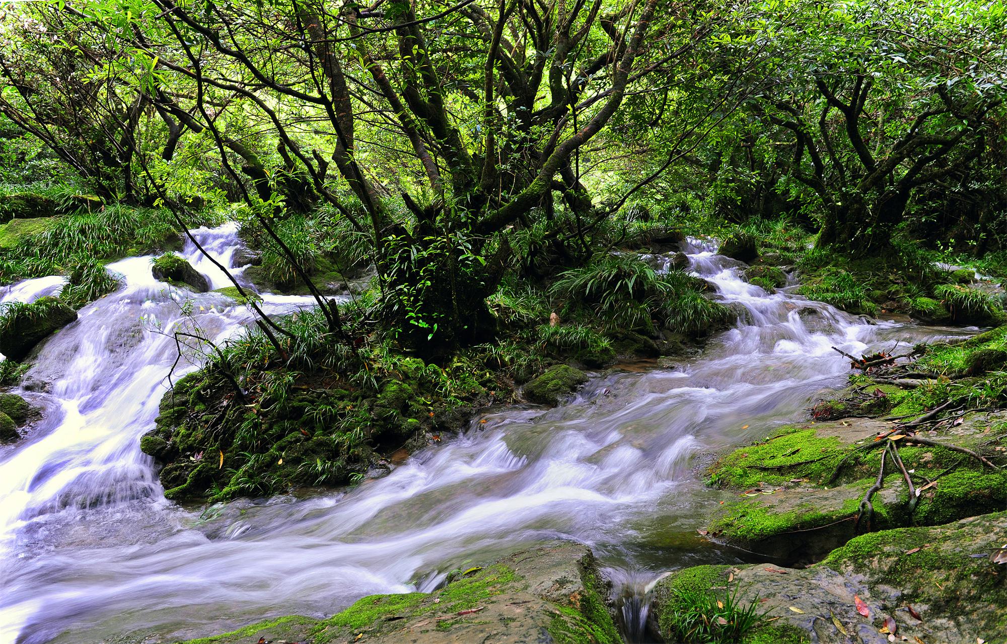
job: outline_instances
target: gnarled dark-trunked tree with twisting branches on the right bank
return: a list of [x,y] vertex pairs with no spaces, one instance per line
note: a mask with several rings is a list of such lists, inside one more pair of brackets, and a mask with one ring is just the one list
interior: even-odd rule
[[819,247],[882,254],[913,193],[989,145],[1007,70],[1004,8],[787,5],[790,19],[766,29],[775,55],[753,80],[755,112],[792,137],[790,176],[822,205]]

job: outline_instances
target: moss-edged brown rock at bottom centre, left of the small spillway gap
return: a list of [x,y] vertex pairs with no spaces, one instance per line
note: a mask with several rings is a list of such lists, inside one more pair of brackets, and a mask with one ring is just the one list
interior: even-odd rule
[[552,542],[458,571],[433,593],[372,595],[314,621],[287,617],[212,638],[219,644],[621,642],[604,600],[606,584],[585,545]]

